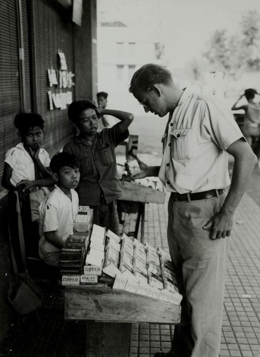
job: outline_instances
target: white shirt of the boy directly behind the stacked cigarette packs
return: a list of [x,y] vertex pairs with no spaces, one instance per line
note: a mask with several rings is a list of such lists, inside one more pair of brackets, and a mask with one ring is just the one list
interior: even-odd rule
[[[44,232],[56,231],[65,243],[70,234],[73,234],[73,222],[79,210],[79,197],[74,189],[71,189],[72,201],[55,185],[55,189],[44,198],[39,207],[40,214],[40,241],[39,255],[57,252],[60,248],[46,241]],[[41,257],[43,259],[43,257]]]

